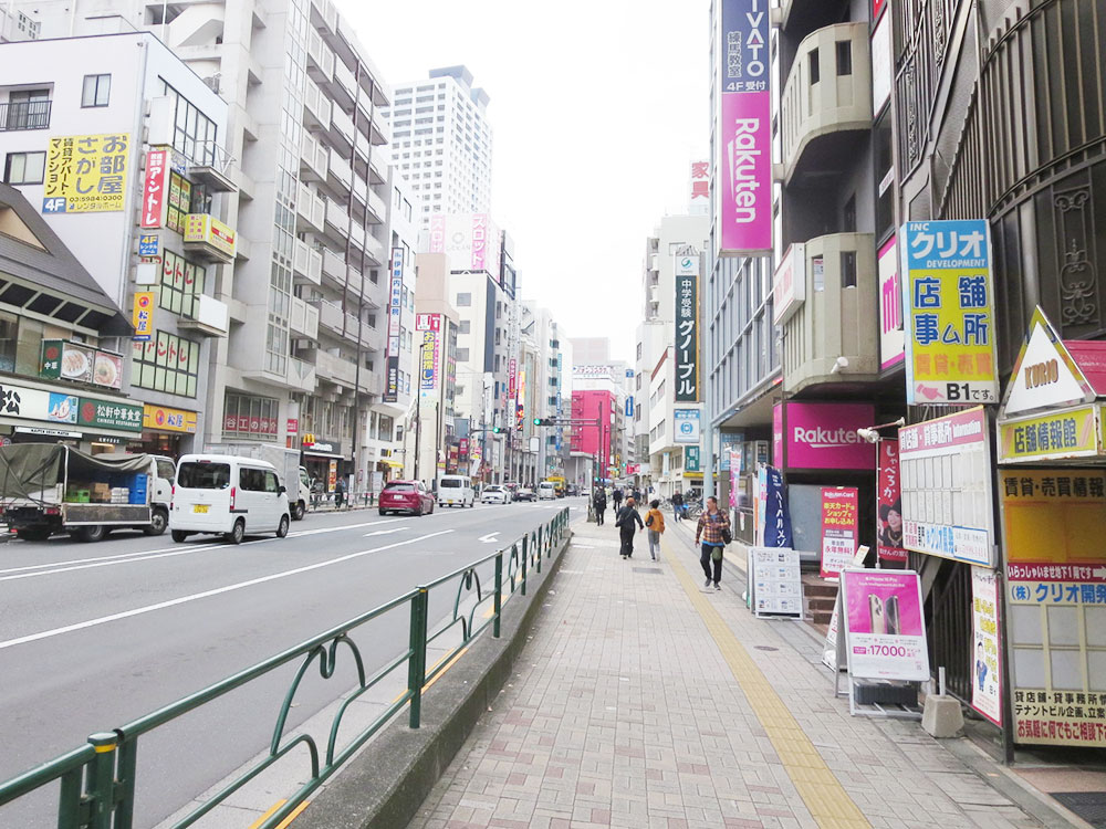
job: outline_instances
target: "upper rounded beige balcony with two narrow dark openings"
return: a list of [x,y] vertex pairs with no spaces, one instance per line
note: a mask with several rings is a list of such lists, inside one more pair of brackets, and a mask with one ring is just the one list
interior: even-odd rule
[[838,23],[803,39],[781,101],[784,180],[845,170],[858,130],[872,128],[868,23]]

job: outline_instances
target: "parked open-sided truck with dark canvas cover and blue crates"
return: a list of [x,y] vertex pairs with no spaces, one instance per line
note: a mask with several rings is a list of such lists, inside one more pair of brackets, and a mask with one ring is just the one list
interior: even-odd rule
[[98,542],[112,529],[160,535],[169,520],[170,458],[97,454],[55,443],[0,447],[0,517],[25,541],[69,533]]

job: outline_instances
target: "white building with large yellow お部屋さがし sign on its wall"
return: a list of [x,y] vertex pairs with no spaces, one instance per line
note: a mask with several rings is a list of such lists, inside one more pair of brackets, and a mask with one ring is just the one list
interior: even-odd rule
[[[227,103],[147,32],[0,44],[6,183],[128,318],[147,314],[148,329],[102,342],[111,354],[96,357],[95,382],[143,403],[131,449],[199,450],[212,426],[206,367],[229,329],[216,294],[238,252],[227,124]],[[77,322],[75,306],[44,300],[25,311]]]

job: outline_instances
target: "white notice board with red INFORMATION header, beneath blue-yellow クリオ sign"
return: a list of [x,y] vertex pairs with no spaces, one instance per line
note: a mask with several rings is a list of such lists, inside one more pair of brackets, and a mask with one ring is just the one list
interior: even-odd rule
[[991,442],[982,407],[899,429],[902,546],[994,567]]

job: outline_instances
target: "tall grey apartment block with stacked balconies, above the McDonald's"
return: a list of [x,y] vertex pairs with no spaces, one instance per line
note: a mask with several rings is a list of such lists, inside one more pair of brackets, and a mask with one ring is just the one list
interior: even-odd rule
[[302,448],[316,473],[364,489],[385,390],[389,96],[348,22],[330,0],[9,6],[41,36],[152,31],[228,102],[222,212],[238,239],[211,287],[230,325],[204,441]]

